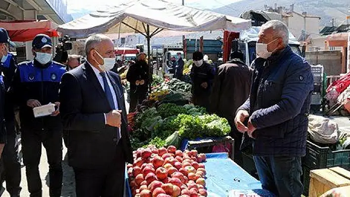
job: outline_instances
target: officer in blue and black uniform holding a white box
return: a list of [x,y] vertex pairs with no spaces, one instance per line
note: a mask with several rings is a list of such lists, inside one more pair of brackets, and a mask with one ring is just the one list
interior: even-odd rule
[[[39,163],[42,144],[49,164],[50,197],[60,197],[62,188],[62,123],[59,116],[59,84],[65,66],[52,61],[51,39],[43,34],[33,40],[34,60],[18,65],[13,80],[20,108],[23,161],[30,197],[42,197]],[[35,118],[33,108],[56,104],[50,116]]]

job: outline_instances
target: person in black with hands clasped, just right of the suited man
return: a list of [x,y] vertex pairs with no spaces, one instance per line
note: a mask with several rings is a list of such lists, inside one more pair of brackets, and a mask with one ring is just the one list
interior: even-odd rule
[[149,66],[146,62],[146,54],[140,53],[135,64],[131,65],[127,80],[130,82],[130,108],[129,113],[134,112],[136,106],[147,98],[149,85]]

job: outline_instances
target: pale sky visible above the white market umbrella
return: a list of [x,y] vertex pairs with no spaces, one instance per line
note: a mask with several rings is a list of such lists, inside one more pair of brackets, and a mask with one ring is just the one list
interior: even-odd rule
[[[120,0],[67,0],[68,13],[72,14],[73,18],[77,18],[91,11],[95,11],[98,7],[112,4],[113,1],[120,2]],[[182,3],[182,0],[169,1],[178,4]],[[184,0],[185,5],[200,9],[215,9],[235,1],[238,0]]]

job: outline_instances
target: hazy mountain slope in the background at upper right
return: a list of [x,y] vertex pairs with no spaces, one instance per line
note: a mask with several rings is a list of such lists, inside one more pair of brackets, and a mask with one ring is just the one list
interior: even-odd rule
[[348,12],[349,0],[241,0],[213,9],[213,11],[225,15],[239,16],[244,11],[263,10],[265,4],[274,8],[275,2],[277,6],[285,6],[287,9],[294,3],[295,12],[306,12],[307,15],[321,17],[320,28],[325,25],[330,26],[332,18],[336,18],[336,25],[346,24],[346,17],[350,15]]

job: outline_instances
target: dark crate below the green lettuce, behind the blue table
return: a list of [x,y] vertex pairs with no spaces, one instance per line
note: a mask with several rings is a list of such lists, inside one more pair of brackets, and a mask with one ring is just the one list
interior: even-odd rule
[[[227,144],[229,144],[229,147],[226,146]],[[225,152],[227,152],[230,155],[230,158],[233,159],[234,140],[230,136],[200,138],[197,140],[183,139],[181,141],[181,150],[195,149],[199,153],[213,153],[213,147],[216,145],[223,145],[226,149]]]

